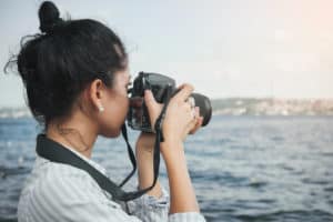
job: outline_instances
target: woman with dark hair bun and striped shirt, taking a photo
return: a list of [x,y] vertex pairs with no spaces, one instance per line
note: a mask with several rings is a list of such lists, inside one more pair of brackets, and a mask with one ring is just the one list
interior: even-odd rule
[[[44,125],[46,138],[69,149],[98,171],[90,160],[98,135],[120,134],[129,109],[128,57],[121,40],[102,23],[64,21],[52,2],[39,9],[40,34],[22,44],[17,58],[33,117]],[[129,211],[108,195],[85,171],[37,157],[22,190],[18,218],[23,221],[204,221],[200,214],[184,157],[183,140],[202,124],[186,99],[193,91],[183,84],[167,109],[162,125],[169,194],[159,182],[130,202]],[[150,120],[161,112],[152,93],[144,100]],[[153,124],[152,124],[153,125]],[[135,148],[139,188],[153,181],[154,135],[141,133]]]

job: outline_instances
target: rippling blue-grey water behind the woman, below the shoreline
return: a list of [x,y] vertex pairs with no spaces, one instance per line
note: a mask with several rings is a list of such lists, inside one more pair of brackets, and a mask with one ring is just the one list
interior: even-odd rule
[[[16,221],[36,125],[0,119],[1,222]],[[132,144],[137,135],[130,132]],[[333,118],[215,115],[185,147],[208,221],[333,221]],[[93,159],[114,180],[130,171],[121,139],[99,139]],[[168,184],[163,165],[161,181]]]

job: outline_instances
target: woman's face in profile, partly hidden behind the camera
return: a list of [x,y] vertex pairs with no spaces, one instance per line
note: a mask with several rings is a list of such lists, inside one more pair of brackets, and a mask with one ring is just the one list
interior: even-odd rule
[[113,75],[112,88],[105,88],[102,98],[103,112],[98,113],[100,133],[103,137],[114,138],[121,132],[129,111],[128,87],[131,75],[128,70],[118,71]]

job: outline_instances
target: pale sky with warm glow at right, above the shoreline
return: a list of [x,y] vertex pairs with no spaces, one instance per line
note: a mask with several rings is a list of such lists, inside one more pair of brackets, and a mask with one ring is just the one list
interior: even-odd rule
[[[18,74],[3,74],[21,37],[39,33],[41,0],[0,1],[0,108],[24,105]],[[333,98],[332,0],[54,0],[62,18],[115,31],[130,71],[190,82],[218,98]]]

